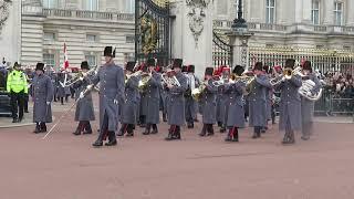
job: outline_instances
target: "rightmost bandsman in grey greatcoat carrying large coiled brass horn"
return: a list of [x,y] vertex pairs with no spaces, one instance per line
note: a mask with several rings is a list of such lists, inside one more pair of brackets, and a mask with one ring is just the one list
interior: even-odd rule
[[[317,94],[322,87],[317,76],[312,73],[312,66],[310,61],[305,61],[302,66],[303,81],[311,80],[315,83],[315,86],[309,91],[308,95]],[[310,101],[306,97],[301,96],[301,118],[302,118],[302,139],[310,139],[312,134],[312,123],[313,123],[313,112],[314,112],[314,101]]]

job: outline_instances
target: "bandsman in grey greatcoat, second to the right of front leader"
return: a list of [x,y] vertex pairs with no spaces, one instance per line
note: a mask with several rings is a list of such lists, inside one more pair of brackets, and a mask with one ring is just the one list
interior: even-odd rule
[[[155,60],[148,59],[145,67],[148,67],[150,78],[147,82],[145,92],[146,97],[146,128],[144,135],[157,134],[157,124],[159,123],[159,90],[162,88],[162,76],[155,71]],[[153,130],[150,132],[150,128]]]

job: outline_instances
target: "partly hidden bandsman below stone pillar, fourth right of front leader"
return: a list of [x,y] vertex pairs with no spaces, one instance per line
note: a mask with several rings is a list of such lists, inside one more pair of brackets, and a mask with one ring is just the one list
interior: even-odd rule
[[186,98],[186,122],[188,128],[194,128],[195,118],[197,115],[197,106],[196,101],[191,97],[191,91],[199,86],[199,81],[195,76],[195,65],[187,66],[187,81],[188,81],[188,88],[185,93]]

